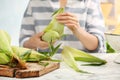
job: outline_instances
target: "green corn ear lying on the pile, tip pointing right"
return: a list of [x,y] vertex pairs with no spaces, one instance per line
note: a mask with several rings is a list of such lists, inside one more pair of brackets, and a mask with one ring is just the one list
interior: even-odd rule
[[16,53],[21,59],[25,61],[40,61],[44,60],[47,57],[35,50],[31,50],[28,48],[12,46],[12,50]]

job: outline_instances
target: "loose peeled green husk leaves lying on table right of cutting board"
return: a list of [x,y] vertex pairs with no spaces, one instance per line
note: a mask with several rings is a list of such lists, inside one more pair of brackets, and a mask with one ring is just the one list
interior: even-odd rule
[[64,46],[63,51],[62,51],[62,57],[65,63],[68,64],[70,67],[72,67],[77,72],[85,72],[85,71],[79,70],[75,60],[88,63],[84,65],[94,65],[94,66],[103,65],[106,63],[105,60],[102,60],[84,51],[80,51],[80,50],[77,50],[69,46]]

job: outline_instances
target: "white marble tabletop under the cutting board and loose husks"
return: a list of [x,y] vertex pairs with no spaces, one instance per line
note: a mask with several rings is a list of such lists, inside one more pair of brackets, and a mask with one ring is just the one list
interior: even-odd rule
[[[61,62],[59,69],[41,77],[24,79],[0,77],[0,80],[120,80],[120,64],[113,62],[116,56],[120,54],[115,53],[93,55],[105,59],[107,64],[102,66],[79,66],[79,68],[94,74],[83,74],[75,72],[65,63]],[[60,55],[56,55],[55,57],[60,58]],[[81,62],[78,62],[78,65],[80,64]]]

